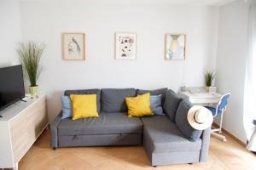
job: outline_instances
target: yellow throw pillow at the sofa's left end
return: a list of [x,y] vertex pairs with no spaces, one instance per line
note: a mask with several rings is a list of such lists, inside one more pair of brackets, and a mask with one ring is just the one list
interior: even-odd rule
[[85,117],[98,117],[96,94],[70,95],[72,101],[72,120]]

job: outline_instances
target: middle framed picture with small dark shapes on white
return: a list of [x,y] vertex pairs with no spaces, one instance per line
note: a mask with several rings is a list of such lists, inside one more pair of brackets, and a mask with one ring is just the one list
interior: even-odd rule
[[115,33],[115,59],[136,59],[136,33]]

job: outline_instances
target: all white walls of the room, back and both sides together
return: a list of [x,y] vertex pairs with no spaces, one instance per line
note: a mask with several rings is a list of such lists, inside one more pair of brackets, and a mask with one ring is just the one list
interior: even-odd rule
[[[60,111],[59,97],[65,89],[168,87],[177,90],[182,85],[202,86],[203,71],[215,68],[218,54],[218,90],[232,93],[224,128],[246,141],[242,98],[247,4],[237,0],[222,6],[218,21],[217,7],[166,2],[1,0],[0,65],[19,63],[15,48],[21,33],[24,41],[47,44],[39,84],[49,96],[52,121]],[[61,60],[61,32],[66,31],[86,33],[85,61]],[[136,61],[113,59],[115,31],[137,32]],[[185,61],[164,60],[166,32],[187,34]]]

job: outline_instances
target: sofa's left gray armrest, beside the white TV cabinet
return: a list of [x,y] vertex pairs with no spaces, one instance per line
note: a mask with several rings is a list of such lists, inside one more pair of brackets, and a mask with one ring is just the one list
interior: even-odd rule
[[55,117],[55,121],[50,124],[50,145],[53,149],[58,147],[58,126],[61,122],[62,111]]

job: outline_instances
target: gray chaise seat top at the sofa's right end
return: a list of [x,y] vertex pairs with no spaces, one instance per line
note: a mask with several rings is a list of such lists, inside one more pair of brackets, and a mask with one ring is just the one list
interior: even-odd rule
[[[167,116],[143,117],[143,139],[153,153],[191,152],[201,150],[201,139],[190,142]],[[146,136],[145,136],[146,135]]]

